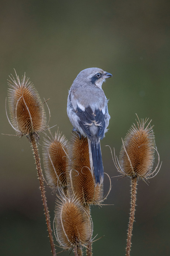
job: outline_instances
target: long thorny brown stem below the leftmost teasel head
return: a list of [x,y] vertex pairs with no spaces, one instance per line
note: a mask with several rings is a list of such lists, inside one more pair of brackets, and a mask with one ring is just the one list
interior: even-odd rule
[[48,233],[49,233],[49,238],[50,238],[52,255],[56,256],[54,241],[53,241],[53,237],[52,237],[51,224],[50,224],[50,216],[49,216],[49,211],[48,211],[48,207],[47,207],[47,199],[45,197],[45,189],[44,189],[43,175],[42,175],[42,169],[41,169],[41,164],[40,164],[40,157],[39,157],[39,154],[38,154],[38,148],[37,148],[37,144],[36,144],[34,135],[30,135],[30,141],[31,141],[32,146],[33,146],[35,162],[36,162],[37,171],[38,171],[38,177],[39,177],[39,180],[40,180],[41,196],[42,196],[42,200],[43,200],[45,217],[46,217],[46,221],[47,221],[47,227],[48,227]]

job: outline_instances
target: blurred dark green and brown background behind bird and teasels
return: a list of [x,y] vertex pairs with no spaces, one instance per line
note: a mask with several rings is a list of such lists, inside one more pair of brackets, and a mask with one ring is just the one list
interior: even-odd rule
[[[163,163],[149,186],[139,181],[131,256],[170,255],[169,10],[168,0],[11,0],[0,5],[1,133],[14,134],[5,113],[7,79],[14,68],[20,77],[26,72],[42,99],[50,98],[50,126],[57,124],[68,139],[72,126],[67,96],[76,75],[88,67],[113,74],[103,84],[111,119],[101,143],[104,169],[110,176],[118,172],[105,145],[119,155],[121,137],[135,122],[135,113],[153,120]],[[30,144],[26,137],[0,139],[0,255],[50,256]],[[104,235],[93,243],[93,255],[125,255],[130,181],[111,180],[105,203],[114,205],[92,207],[93,236]],[[105,191],[108,187],[105,178]],[[55,195],[46,190],[52,221]]]

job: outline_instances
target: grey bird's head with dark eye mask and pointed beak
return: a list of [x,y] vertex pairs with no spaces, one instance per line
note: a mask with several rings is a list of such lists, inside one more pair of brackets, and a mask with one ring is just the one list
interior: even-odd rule
[[77,79],[101,88],[105,79],[109,77],[112,77],[112,74],[103,71],[101,68],[86,68],[78,74]]

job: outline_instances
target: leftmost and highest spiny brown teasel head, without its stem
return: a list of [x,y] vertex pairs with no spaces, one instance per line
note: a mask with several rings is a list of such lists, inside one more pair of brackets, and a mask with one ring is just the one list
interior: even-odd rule
[[11,75],[8,80],[8,104],[11,117],[11,126],[17,135],[23,136],[36,134],[45,129],[46,116],[44,105],[33,83],[24,75],[20,81]]

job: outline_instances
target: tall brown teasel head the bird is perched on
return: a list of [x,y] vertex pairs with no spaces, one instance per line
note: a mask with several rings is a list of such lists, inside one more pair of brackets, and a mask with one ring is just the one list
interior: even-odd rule
[[98,204],[103,197],[103,185],[97,184],[90,169],[88,140],[72,132],[68,146],[67,185],[82,204]]

